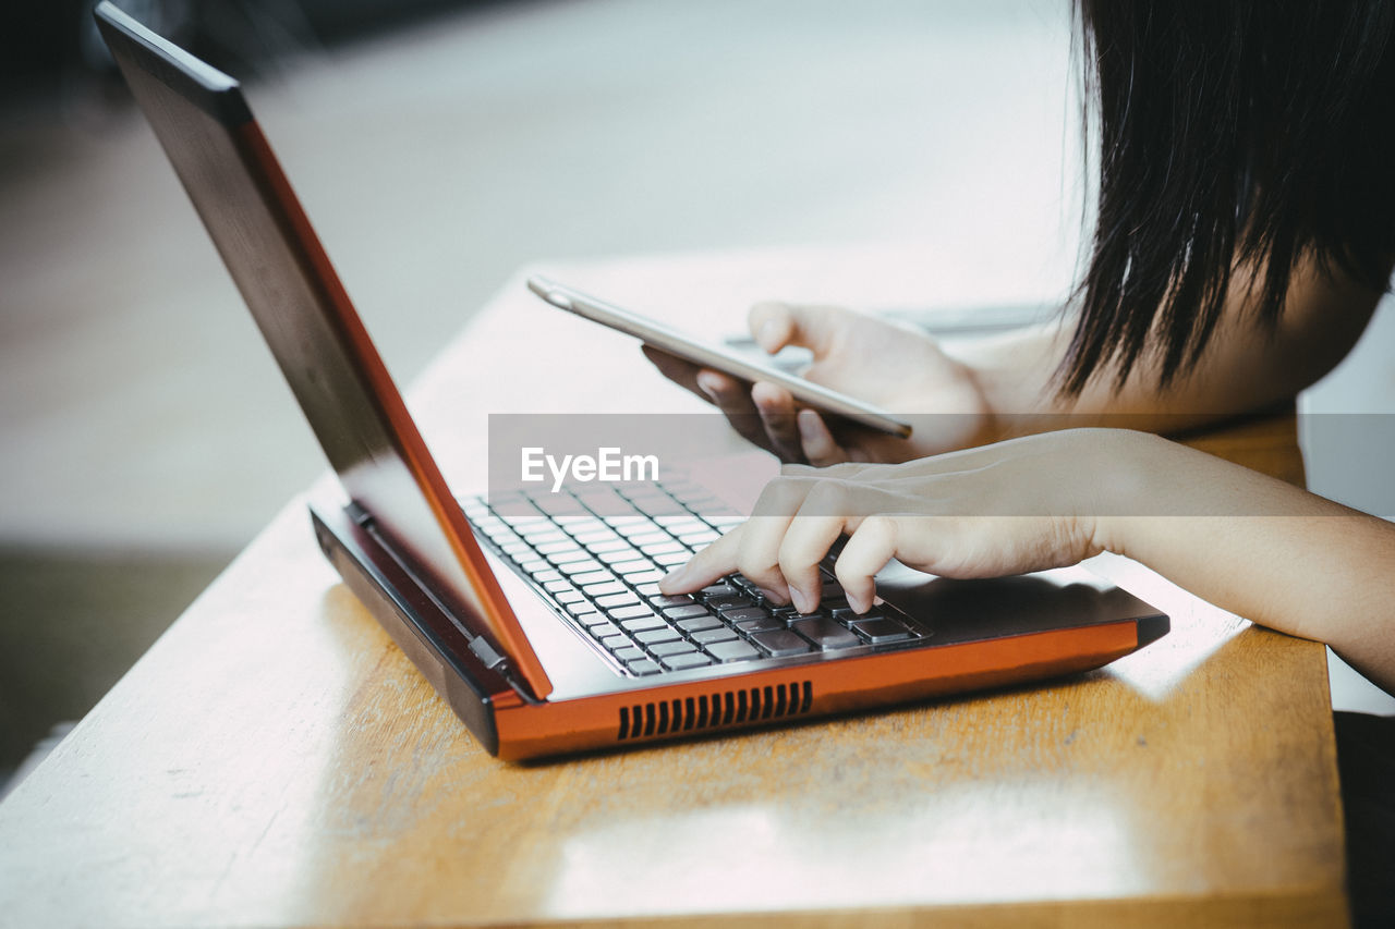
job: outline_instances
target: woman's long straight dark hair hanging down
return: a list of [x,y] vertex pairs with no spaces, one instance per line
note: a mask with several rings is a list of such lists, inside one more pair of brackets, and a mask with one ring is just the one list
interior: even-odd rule
[[[1197,364],[1235,276],[1269,332],[1311,258],[1381,292],[1395,257],[1395,3],[1077,0],[1098,220],[1057,371]],[[1096,126],[1092,126],[1096,123]]]

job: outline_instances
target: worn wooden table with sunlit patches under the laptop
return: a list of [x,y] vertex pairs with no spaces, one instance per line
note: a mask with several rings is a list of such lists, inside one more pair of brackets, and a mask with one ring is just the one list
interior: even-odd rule
[[[723,326],[766,294],[900,303],[953,278],[889,285],[898,266],[550,271]],[[696,409],[520,279],[414,398],[458,490],[483,480],[487,411]],[[512,766],[339,583],[293,501],[0,805],[0,923],[1345,923],[1321,646],[1099,566],[1173,621],[1102,671]]]

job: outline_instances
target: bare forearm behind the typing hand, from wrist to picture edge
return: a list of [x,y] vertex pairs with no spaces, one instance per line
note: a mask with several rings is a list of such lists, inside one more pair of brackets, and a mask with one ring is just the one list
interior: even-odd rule
[[1130,441],[1122,480],[1101,491],[1096,545],[1325,642],[1395,693],[1395,524],[1180,445]]

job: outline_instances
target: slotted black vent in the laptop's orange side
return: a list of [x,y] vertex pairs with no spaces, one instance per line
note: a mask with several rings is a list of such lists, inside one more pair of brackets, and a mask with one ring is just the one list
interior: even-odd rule
[[812,703],[813,685],[808,681],[636,703],[619,709],[619,741],[799,716]]

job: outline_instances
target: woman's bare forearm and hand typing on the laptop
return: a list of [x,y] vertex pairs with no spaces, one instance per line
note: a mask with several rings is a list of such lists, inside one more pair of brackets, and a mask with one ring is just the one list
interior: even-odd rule
[[787,466],[756,515],[661,582],[734,571],[817,604],[817,565],[859,611],[889,559],[951,577],[1115,551],[1202,598],[1331,644],[1395,693],[1395,524],[1166,439],[1126,430],[1030,435],[904,464]]

